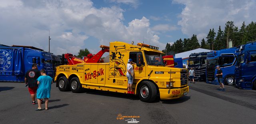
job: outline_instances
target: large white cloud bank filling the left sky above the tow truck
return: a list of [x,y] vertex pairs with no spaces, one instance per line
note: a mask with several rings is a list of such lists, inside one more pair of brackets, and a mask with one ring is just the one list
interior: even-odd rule
[[[129,1],[137,0],[123,2]],[[97,9],[90,0],[1,0],[0,42],[48,51],[50,30],[50,52],[54,54],[77,54],[79,49],[88,48],[90,37],[99,41],[95,42],[97,48],[89,48],[92,51],[112,41],[144,41],[160,49],[165,47],[150,29],[146,17],[134,19],[125,26],[123,12],[116,6]]]

